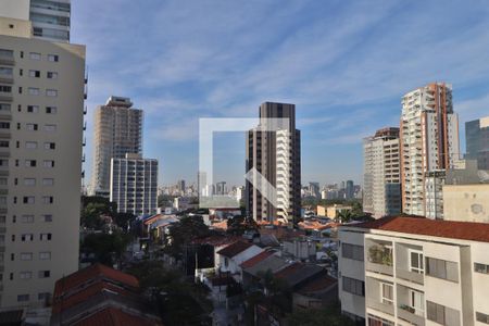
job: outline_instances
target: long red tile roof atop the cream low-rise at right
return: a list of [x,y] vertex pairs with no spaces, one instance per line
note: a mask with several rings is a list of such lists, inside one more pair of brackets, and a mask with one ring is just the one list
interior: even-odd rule
[[369,229],[423,235],[440,238],[489,242],[489,224],[428,220],[424,217],[384,217],[351,225]]

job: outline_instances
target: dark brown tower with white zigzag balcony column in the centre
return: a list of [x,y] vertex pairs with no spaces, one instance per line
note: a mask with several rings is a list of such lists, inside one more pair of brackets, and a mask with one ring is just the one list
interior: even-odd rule
[[296,129],[296,105],[265,102],[260,106],[261,125],[266,118],[288,118],[276,131],[254,128],[247,134],[246,171],[256,168],[276,189],[274,206],[256,187],[247,181],[247,211],[256,221],[283,220],[293,223],[301,208],[301,136]]

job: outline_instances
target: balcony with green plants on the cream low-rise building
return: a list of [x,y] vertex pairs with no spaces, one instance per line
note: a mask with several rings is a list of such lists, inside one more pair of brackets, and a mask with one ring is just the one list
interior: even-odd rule
[[366,239],[366,269],[385,275],[393,275],[392,244],[386,241]]

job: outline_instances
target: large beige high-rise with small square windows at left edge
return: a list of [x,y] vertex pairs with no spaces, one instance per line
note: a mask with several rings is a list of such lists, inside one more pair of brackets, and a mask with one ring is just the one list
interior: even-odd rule
[[[2,15],[22,12],[7,2]],[[78,268],[85,47],[35,38],[24,18],[0,17],[2,309],[46,304]]]

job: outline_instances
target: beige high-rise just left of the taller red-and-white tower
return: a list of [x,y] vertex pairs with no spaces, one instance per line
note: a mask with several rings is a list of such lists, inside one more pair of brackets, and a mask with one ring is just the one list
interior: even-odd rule
[[[363,141],[363,210],[378,218],[401,212],[399,128],[384,128]],[[347,191],[348,192],[348,191]]]

